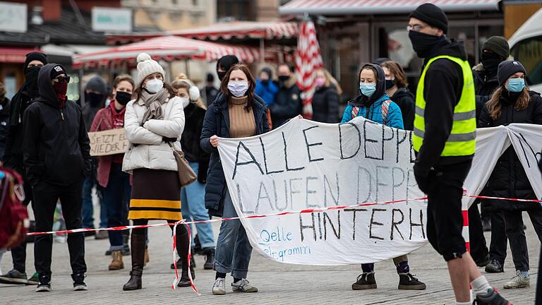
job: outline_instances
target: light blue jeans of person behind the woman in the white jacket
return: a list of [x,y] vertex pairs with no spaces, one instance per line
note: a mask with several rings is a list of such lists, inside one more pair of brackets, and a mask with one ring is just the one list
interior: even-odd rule
[[[190,167],[196,175],[198,175],[198,162],[190,162]],[[205,184],[200,184],[195,181],[181,189],[181,213],[187,221],[209,220],[209,211],[205,208]],[[215,248],[215,237],[212,233],[210,223],[195,224],[198,229],[198,238],[200,239],[201,248]],[[192,232],[192,246],[194,245],[193,226],[190,225]]]

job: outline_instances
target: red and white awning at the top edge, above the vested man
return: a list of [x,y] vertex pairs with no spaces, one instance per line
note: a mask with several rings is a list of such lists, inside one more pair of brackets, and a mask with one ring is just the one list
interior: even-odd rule
[[279,7],[281,15],[320,14],[394,14],[409,13],[424,3],[433,3],[443,11],[495,11],[500,0],[292,0]]

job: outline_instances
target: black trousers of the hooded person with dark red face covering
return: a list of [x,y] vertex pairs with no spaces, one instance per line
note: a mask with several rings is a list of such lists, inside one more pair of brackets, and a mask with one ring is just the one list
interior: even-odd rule
[[[81,208],[83,181],[69,186],[58,186],[41,181],[33,189],[36,232],[51,231],[53,228],[56,202],[60,200],[66,229],[79,229],[83,226]],[[37,273],[51,275],[51,256],[53,237],[50,234],[39,235],[34,243],[34,261]],[[85,273],[85,236],[83,233],[68,234],[71,270],[73,273]]]

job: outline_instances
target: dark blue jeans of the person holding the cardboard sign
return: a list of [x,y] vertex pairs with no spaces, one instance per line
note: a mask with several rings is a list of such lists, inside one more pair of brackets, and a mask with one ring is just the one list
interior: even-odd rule
[[[126,208],[130,204],[130,176],[122,171],[122,165],[113,163],[109,183],[104,190],[107,210],[107,227],[120,227],[126,222]],[[111,251],[122,250],[122,231],[108,231]]]

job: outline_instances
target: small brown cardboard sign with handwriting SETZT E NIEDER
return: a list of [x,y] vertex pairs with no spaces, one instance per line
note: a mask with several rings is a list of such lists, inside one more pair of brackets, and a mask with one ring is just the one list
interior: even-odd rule
[[90,139],[90,155],[116,155],[128,150],[128,139],[124,128],[110,129],[88,133]]

